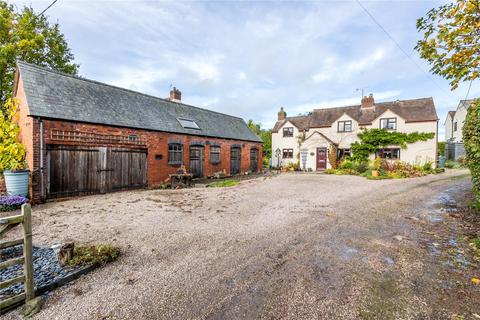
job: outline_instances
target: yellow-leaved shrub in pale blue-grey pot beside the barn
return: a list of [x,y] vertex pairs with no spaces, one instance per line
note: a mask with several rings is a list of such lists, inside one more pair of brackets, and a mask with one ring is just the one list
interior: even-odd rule
[[0,172],[3,171],[7,194],[26,197],[30,171],[25,161],[25,147],[19,142],[18,103],[9,99],[0,110]]

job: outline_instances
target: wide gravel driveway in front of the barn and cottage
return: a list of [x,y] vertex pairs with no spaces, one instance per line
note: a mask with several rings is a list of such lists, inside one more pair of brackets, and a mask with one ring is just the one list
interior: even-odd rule
[[283,174],[37,206],[35,244],[108,242],[122,256],[56,290],[35,319],[451,319],[475,306],[442,300],[443,267],[406,217],[430,223],[469,187],[465,170]]

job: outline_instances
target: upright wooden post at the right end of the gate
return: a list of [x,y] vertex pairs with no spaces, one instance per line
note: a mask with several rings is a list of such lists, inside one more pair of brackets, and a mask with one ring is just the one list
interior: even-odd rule
[[23,214],[23,256],[25,258],[25,300],[35,298],[33,280],[33,248],[32,248],[32,207],[29,204],[22,205]]

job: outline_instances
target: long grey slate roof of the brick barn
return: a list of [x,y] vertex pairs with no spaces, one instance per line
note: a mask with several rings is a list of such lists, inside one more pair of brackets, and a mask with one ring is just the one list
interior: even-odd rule
[[[17,63],[31,116],[261,142],[243,119]],[[183,128],[178,118],[201,130]]]

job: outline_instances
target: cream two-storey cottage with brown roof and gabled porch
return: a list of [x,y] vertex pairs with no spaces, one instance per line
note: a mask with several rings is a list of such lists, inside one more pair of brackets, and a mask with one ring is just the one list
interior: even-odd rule
[[[272,130],[272,165],[284,166],[306,158],[306,170],[330,168],[328,151],[337,149],[337,158],[351,154],[350,145],[359,141],[361,129],[383,128],[398,132],[433,132],[428,141],[409,144],[406,149],[387,146],[374,157],[412,164],[436,163],[438,117],[432,98],[375,103],[373,95],[360,105],[315,109],[305,116],[287,117],[283,108]],[[302,152],[301,152],[302,151]]]

